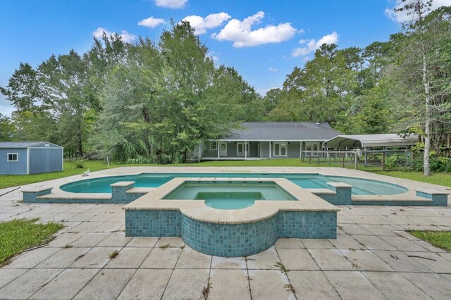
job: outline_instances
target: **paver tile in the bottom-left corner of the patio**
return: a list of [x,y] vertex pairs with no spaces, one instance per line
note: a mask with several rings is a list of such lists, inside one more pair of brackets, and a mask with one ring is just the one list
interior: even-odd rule
[[54,279],[61,269],[32,269],[0,289],[2,299],[27,299]]

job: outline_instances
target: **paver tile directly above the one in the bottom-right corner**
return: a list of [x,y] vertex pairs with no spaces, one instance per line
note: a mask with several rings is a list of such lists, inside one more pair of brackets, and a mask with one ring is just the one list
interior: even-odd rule
[[426,266],[422,265],[414,258],[408,257],[407,254],[404,254],[402,251],[373,250],[372,252],[397,272],[432,272],[426,268]]

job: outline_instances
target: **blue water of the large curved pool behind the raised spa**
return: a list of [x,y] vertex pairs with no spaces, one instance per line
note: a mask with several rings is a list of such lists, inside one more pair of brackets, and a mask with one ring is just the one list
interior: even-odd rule
[[326,182],[344,182],[352,185],[354,195],[393,195],[407,192],[405,187],[388,182],[356,177],[323,176],[319,174],[267,174],[267,173],[142,173],[80,180],[62,185],[60,189],[73,193],[111,193],[110,185],[119,181],[134,181],[135,187],[159,187],[175,177],[283,177],[304,189],[329,189]]

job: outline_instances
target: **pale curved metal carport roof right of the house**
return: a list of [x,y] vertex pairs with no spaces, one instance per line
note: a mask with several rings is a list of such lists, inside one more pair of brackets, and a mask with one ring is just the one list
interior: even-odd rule
[[324,142],[328,148],[362,148],[378,146],[411,146],[419,141],[416,134],[400,137],[395,133],[382,135],[338,135]]

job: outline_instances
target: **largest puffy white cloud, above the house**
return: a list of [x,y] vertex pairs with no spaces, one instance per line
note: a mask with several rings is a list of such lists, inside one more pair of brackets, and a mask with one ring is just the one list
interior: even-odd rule
[[259,11],[242,21],[230,20],[221,32],[211,35],[211,37],[219,41],[232,41],[234,47],[249,47],[284,42],[297,32],[290,23],[267,25],[257,30],[251,30],[252,25],[260,23],[264,15],[263,11]]

